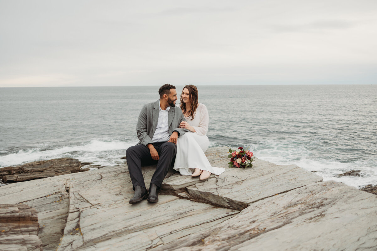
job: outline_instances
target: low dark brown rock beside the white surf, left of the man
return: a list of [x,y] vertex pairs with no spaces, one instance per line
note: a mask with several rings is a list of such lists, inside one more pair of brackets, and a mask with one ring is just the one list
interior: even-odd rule
[[20,166],[8,166],[0,169],[3,182],[17,182],[53,177],[80,172],[80,161],[73,158],[34,161]]

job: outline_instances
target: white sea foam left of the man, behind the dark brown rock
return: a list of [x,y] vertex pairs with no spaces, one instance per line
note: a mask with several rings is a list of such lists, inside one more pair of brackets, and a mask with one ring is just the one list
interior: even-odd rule
[[95,139],[84,145],[63,146],[45,151],[42,151],[40,148],[20,150],[0,156],[0,167],[63,157],[78,158],[80,161],[93,162],[93,164],[101,166],[111,166],[124,163],[119,158],[126,154],[127,148],[135,144],[136,142],[119,140],[101,141]]

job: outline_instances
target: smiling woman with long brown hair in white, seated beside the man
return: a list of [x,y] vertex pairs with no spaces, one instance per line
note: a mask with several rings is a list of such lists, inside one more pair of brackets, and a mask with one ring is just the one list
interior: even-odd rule
[[[219,175],[225,171],[224,167],[212,167],[204,152],[209,145],[208,137],[208,111],[202,103],[198,103],[198,89],[195,85],[186,85],[181,97],[181,109],[187,122],[183,121],[180,128],[190,130],[177,140],[177,155],[174,169],[181,175],[192,175],[200,180],[206,180],[211,173]],[[195,169],[192,173],[190,169]]]

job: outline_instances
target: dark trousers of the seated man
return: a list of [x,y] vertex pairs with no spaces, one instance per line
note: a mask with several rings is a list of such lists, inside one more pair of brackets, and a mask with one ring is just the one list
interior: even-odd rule
[[155,142],[154,146],[159,155],[158,161],[152,159],[149,148],[142,144],[127,148],[127,166],[133,185],[133,190],[135,190],[135,186],[146,188],[143,173],[141,172],[141,165],[156,163],[156,170],[155,173],[153,173],[150,183],[161,187],[162,181],[164,180],[167,172],[169,171],[170,165],[172,164],[172,160],[177,154],[177,146],[172,142]]

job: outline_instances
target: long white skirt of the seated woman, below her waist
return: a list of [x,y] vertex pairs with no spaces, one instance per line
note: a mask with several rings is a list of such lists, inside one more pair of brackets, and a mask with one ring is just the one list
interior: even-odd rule
[[174,169],[181,175],[192,175],[192,170],[199,168],[207,170],[215,175],[225,171],[224,167],[213,167],[205,156],[209,140],[206,135],[198,135],[194,132],[187,132],[177,140],[177,155],[175,157]]

